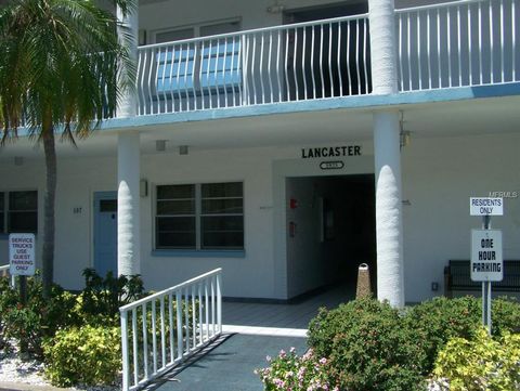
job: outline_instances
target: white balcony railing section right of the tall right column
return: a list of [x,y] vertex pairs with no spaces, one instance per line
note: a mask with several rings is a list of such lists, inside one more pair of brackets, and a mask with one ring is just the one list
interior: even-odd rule
[[398,10],[400,91],[519,81],[519,0]]

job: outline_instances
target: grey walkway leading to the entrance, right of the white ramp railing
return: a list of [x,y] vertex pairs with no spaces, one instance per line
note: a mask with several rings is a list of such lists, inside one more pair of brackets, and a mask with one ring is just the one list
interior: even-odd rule
[[223,302],[223,336],[152,383],[157,391],[261,391],[256,368],[280,350],[307,350],[307,327],[321,307],[335,308],[354,292],[337,286],[294,304]]

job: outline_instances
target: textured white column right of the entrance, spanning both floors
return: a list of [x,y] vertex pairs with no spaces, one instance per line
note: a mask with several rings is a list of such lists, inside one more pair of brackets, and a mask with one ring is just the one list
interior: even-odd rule
[[[369,0],[373,93],[398,93],[393,0]],[[404,305],[399,113],[374,112],[377,298]]]

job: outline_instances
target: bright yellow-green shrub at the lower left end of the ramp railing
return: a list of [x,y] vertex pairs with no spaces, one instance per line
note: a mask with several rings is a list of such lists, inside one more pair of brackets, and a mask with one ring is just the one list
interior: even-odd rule
[[55,386],[110,385],[121,368],[118,327],[58,330],[43,343],[46,376]]

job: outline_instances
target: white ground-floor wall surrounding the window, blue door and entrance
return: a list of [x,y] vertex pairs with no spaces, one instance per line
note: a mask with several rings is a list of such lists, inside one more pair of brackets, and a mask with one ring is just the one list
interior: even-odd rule
[[[369,143],[368,143],[369,144]],[[496,133],[457,138],[416,136],[402,152],[404,262],[406,301],[443,291],[443,268],[450,259],[469,259],[470,230],[480,227],[469,216],[469,197],[493,191],[520,194],[520,134]],[[198,273],[222,266],[224,295],[287,298],[286,192],[288,177],[323,175],[316,160],[300,158],[300,145],[177,151],[142,157],[142,175],[155,184],[244,181],[245,258],[157,257],[153,250],[153,196],[142,198],[142,272],[147,288],[160,289]],[[373,156],[347,158],[343,173],[369,173]],[[44,170],[42,160],[22,167],[0,165],[0,191],[39,191],[39,232],[42,229]],[[82,269],[92,265],[92,197],[116,188],[114,157],[58,159],[56,199],[56,281],[80,288]],[[287,196],[289,194],[287,193]],[[80,207],[81,213],[74,213]],[[504,231],[504,256],[520,259],[520,198],[505,200],[505,216],[492,219]],[[41,247],[40,243],[38,243]],[[41,253],[38,248],[37,257]],[[0,237],[0,259],[6,260],[6,236]],[[3,261],[0,263],[4,263]],[[298,271],[304,275],[304,271]],[[303,274],[302,274],[303,273]],[[440,284],[432,292],[432,282]],[[298,288],[300,289],[300,288]]]

